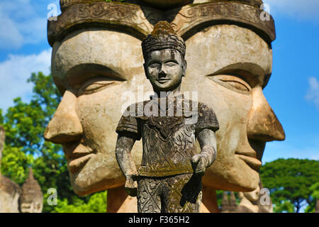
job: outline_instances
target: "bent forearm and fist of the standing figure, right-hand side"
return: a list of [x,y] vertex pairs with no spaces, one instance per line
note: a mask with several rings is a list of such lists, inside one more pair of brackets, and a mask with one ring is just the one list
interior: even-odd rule
[[205,128],[197,134],[197,139],[201,146],[201,153],[194,155],[191,162],[194,165],[195,173],[203,176],[206,168],[210,167],[216,159],[216,135],[211,129]]

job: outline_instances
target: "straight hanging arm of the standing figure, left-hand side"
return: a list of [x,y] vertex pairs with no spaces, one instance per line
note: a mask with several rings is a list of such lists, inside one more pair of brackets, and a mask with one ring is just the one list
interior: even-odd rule
[[126,178],[125,190],[130,196],[136,196],[138,190],[136,182],[138,170],[136,170],[135,162],[130,153],[134,143],[134,135],[130,133],[120,133],[116,141],[116,160]]

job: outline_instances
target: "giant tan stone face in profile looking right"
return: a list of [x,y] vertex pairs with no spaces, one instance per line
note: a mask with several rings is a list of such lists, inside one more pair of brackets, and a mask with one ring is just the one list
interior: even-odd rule
[[186,41],[188,70],[182,91],[198,91],[198,100],[216,112],[216,161],[203,184],[249,192],[258,187],[265,144],[283,140],[284,131],[262,87],[272,72],[272,49],[256,33],[220,25]]

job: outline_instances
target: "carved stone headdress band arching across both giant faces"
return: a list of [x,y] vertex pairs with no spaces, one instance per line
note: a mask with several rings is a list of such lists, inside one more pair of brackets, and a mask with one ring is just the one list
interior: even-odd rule
[[[159,0],[152,0],[157,1]],[[176,34],[184,40],[194,31],[223,23],[249,28],[269,44],[276,39],[272,16],[268,15],[265,19],[261,17],[266,13],[260,8],[262,0],[207,0],[202,4],[189,4],[181,9],[167,11],[146,9],[144,6],[142,9],[138,2],[140,1],[135,4],[122,4],[105,0],[60,0],[62,14],[57,20],[49,18],[47,23],[49,43],[53,46],[55,41],[62,40],[72,31],[88,28],[88,25],[90,28],[108,28],[130,33],[144,40],[152,31],[152,24],[158,21],[169,21]]]

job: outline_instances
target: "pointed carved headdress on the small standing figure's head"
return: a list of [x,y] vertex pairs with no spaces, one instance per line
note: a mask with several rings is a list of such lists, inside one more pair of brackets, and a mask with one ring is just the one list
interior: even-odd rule
[[184,40],[175,35],[174,28],[167,21],[159,21],[154,26],[152,33],[142,41],[143,56],[146,59],[147,53],[167,48],[178,50],[185,57],[186,45]]

